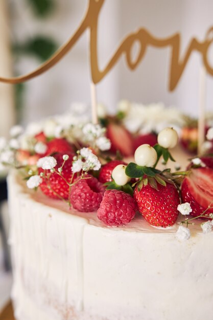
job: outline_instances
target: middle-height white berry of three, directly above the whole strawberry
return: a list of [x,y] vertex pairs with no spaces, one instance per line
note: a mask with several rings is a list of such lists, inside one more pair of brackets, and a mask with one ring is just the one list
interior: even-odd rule
[[152,167],[157,161],[157,152],[150,145],[144,144],[135,150],[134,157],[138,166]]

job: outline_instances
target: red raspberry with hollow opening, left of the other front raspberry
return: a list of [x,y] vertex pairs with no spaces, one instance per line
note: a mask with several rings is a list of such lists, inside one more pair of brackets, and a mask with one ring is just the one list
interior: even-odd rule
[[70,192],[70,202],[73,208],[82,212],[92,212],[100,207],[105,187],[97,178],[87,175],[73,185]]

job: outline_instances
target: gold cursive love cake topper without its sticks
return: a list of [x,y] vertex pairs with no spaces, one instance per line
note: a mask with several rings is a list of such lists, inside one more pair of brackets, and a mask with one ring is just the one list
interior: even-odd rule
[[[43,64],[41,64],[35,71],[14,78],[3,78],[0,77],[0,81],[6,83],[19,83],[30,80],[36,76],[41,75],[45,71],[49,70],[58,61],[60,61],[63,56],[72,49],[81,35],[88,29],[90,38],[90,67],[91,67],[91,79],[93,83],[100,82],[106,74],[111,70],[111,68],[116,64],[122,55],[126,57],[127,65],[131,70],[134,70],[139,62],[143,59],[148,46],[162,48],[169,47],[171,49],[170,56],[170,75],[169,75],[169,90],[172,91],[177,86],[183,71],[186,67],[188,59],[193,51],[198,51],[201,54],[203,65],[208,74],[213,76],[213,68],[208,62],[208,50],[213,40],[213,27],[211,27],[203,41],[199,41],[196,38],[192,38],[188,47],[182,57],[180,57],[180,34],[175,33],[168,38],[156,38],[145,28],[139,28],[137,31],[130,33],[121,42],[117,50],[114,52],[110,58],[107,65],[103,70],[99,68],[99,59],[97,52],[97,33],[98,33],[98,19],[100,10],[104,4],[105,0],[88,0],[88,7],[86,14],[76,30],[76,32],[69,38],[69,40],[60,47],[56,53]],[[139,42],[140,49],[136,59],[132,59],[131,50],[135,43]]]

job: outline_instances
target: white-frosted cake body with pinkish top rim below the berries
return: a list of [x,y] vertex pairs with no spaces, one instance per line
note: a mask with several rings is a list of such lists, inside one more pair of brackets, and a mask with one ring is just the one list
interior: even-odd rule
[[17,320],[211,320],[213,233],[119,228],[8,178]]

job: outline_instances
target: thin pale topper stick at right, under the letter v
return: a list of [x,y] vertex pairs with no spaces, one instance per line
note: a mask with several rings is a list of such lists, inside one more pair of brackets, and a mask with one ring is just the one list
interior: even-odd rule
[[202,152],[205,140],[205,105],[206,105],[206,68],[200,67],[199,77],[199,114],[198,114],[198,154]]

